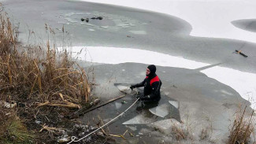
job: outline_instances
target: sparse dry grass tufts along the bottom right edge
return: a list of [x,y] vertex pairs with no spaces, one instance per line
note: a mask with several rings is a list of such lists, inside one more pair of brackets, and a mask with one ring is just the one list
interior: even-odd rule
[[[213,135],[213,124],[210,118],[207,117],[207,121],[209,124],[201,124],[202,131],[200,131],[199,135],[197,134],[197,130],[195,127],[191,127],[192,121],[188,120],[187,115],[184,120],[184,123],[181,124],[173,124],[171,127],[171,134],[173,136],[173,140],[177,143],[227,143],[227,144],[250,144],[255,142],[255,120],[254,120],[254,109],[248,109],[248,105],[245,105],[244,108],[242,105],[237,105],[236,113],[234,113],[230,119],[233,120],[232,124],[228,127],[228,134],[222,133],[224,135],[221,136],[221,139],[212,138]],[[215,127],[216,128],[216,127]]]

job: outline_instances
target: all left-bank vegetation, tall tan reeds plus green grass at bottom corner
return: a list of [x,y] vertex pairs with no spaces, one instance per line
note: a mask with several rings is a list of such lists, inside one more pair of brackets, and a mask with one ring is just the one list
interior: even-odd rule
[[[80,108],[90,101],[91,83],[87,72],[72,61],[71,54],[58,50],[51,39],[45,46],[18,45],[17,29],[3,9],[0,11],[0,143],[33,143],[33,131],[42,128],[35,120],[47,124],[45,115],[50,112],[39,107]],[[46,32],[54,38],[54,31],[47,25]],[[17,107],[6,108],[2,105],[4,102],[15,102]],[[59,120],[58,115],[50,124]],[[47,140],[48,137],[41,133],[40,138]]]

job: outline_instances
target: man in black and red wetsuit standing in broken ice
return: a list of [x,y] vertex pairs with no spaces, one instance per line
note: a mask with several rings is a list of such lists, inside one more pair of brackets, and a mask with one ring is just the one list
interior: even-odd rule
[[138,98],[142,101],[142,107],[154,107],[158,105],[158,102],[161,99],[160,88],[161,88],[161,80],[156,75],[157,68],[155,65],[149,65],[146,70],[146,78],[141,83],[137,83],[132,85],[130,88],[133,89],[135,87],[144,87],[144,94],[142,96],[138,96]]

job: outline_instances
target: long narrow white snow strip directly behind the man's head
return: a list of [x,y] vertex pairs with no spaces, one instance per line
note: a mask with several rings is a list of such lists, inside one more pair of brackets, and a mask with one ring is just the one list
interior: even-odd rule
[[[139,50],[132,48],[74,46],[72,47],[72,54],[74,54],[73,56],[75,57],[81,57],[81,60],[83,61],[92,61],[103,64],[135,62],[189,69],[201,68],[209,65],[202,62],[187,60],[183,57],[173,57],[169,54],[161,54],[150,50]],[[152,57],[157,58],[152,59]]]

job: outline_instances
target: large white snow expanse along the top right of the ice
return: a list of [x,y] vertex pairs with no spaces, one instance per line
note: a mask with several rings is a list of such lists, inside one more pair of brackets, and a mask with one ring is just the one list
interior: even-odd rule
[[186,20],[192,36],[256,42],[256,33],[232,25],[233,20],[256,18],[254,0],[83,0],[147,9]]

